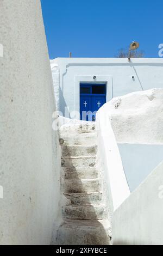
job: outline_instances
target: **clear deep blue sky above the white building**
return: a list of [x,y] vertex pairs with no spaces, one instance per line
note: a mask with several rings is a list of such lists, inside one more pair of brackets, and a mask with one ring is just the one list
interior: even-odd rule
[[131,41],[145,57],[163,43],[162,0],[41,0],[49,56],[115,57]]

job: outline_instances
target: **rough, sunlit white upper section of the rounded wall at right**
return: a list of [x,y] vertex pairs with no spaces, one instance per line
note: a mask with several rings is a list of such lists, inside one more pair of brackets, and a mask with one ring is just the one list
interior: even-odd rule
[[104,105],[117,143],[163,144],[163,89],[115,97]]

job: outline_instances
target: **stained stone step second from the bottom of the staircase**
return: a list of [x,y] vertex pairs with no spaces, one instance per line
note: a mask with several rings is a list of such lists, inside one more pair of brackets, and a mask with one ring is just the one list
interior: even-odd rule
[[62,216],[70,220],[103,220],[106,212],[103,205],[66,205],[62,207]]

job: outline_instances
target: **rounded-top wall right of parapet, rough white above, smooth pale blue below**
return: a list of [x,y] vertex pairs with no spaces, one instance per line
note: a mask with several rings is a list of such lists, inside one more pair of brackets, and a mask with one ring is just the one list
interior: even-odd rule
[[130,187],[137,186],[162,161],[163,89],[115,97],[100,112],[108,113]]

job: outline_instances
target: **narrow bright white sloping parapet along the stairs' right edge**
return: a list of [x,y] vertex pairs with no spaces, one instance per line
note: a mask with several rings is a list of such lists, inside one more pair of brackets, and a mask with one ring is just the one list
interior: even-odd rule
[[[120,152],[109,120],[107,107],[97,112],[98,163],[104,173],[109,208],[116,210],[130,195]],[[111,195],[110,195],[111,192]],[[111,198],[112,196],[112,198]],[[111,211],[112,211],[111,210]]]

